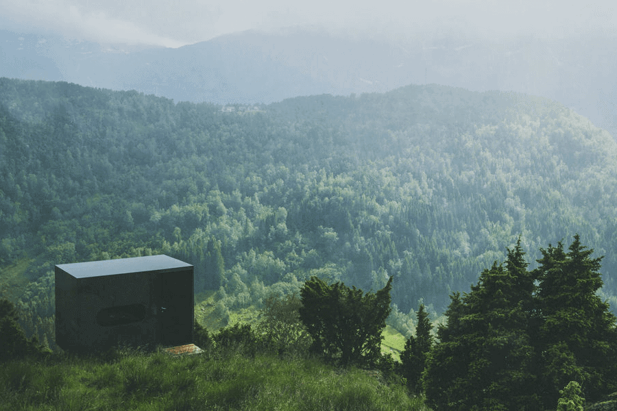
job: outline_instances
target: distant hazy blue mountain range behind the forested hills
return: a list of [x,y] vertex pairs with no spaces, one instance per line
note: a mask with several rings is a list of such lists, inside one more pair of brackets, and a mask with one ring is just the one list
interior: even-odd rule
[[412,83],[513,90],[560,101],[615,135],[616,41],[428,33],[385,39],[295,28],[143,49],[0,31],[0,76],[217,104],[386,92]]

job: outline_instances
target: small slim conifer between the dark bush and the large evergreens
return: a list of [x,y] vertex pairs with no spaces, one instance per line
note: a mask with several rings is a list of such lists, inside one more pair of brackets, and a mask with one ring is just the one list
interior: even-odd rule
[[407,387],[411,393],[420,393],[422,384],[420,378],[426,366],[426,356],[433,347],[431,329],[433,325],[428,320],[424,304],[418,308],[418,323],[415,326],[415,336],[410,336],[400,354],[402,375],[407,379]]

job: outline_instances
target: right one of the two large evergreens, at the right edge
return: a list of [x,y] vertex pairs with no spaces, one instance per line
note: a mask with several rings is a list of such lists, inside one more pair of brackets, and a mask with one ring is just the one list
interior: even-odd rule
[[578,234],[568,250],[561,242],[549,245],[537,260],[542,313],[537,351],[547,405],[569,381],[580,382],[590,401],[617,388],[616,319],[596,295],[603,285],[602,257],[592,258],[593,249],[581,245]]

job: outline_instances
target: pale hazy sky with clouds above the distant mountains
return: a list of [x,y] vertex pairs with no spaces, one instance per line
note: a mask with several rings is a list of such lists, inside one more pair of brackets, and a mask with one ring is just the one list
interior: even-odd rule
[[179,47],[246,29],[617,36],[615,0],[0,0],[0,28]]

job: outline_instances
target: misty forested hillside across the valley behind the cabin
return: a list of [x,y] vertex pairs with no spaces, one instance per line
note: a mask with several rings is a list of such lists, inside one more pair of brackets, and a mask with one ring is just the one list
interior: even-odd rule
[[[617,145],[563,105],[407,86],[252,110],[0,79],[0,291],[53,346],[53,265],[167,253],[217,310],[315,275],[443,312],[521,236],[579,233],[617,283]],[[432,308],[431,308],[432,305]]]

